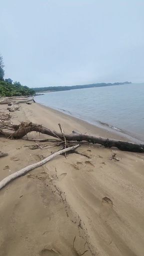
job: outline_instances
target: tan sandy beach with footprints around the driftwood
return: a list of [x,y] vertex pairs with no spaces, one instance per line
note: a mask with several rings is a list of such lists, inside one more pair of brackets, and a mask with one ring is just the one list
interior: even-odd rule
[[[119,138],[37,103],[11,115],[13,123],[58,130],[60,122],[65,132]],[[35,137],[47,136],[28,134]],[[0,150],[8,153],[0,158],[0,180],[60,149],[32,150],[33,144],[0,137]],[[76,150],[87,157],[57,156],[0,190],[0,256],[143,256],[144,154],[92,144]],[[113,151],[119,161],[109,159]]]

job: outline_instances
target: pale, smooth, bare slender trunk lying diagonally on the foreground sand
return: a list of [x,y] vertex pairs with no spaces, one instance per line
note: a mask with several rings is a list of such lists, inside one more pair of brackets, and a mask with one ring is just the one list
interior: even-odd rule
[[70,147],[67,147],[67,148],[64,148],[62,150],[59,150],[49,156],[47,156],[46,158],[44,158],[43,160],[39,161],[39,162],[35,162],[33,164],[30,164],[26,167],[24,167],[23,169],[20,169],[10,175],[8,175],[7,177],[3,178],[1,181],[0,181],[0,189],[2,187],[4,187],[5,185],[7,185],[11,180],[25,174],[27,171],[29,170],[32,170],[38,166],[41,166],[42,164],[46,163],[47,161],[50,161],[51,159],[53,159],[55,156],[59,155],[59,154],[63,154],[67,151],[70,151],[70,150],[73,150],[75,149],[76,147],[78,147],[79,145],[75,145],[75,146],[70,146]]

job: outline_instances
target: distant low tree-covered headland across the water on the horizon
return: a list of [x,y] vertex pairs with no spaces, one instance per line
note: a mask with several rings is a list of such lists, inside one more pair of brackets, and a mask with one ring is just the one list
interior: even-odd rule
[[102,86],[112,86],[112,85],[120,85],[120,84],[129,84],[131,82],[101,82],[101,83],[91,83],[91,84],[83,84],[83,85],[71,85],[71,86],[46,86],[46,87],[35,87],[32,88],[35,92],[41,91],[59,91],[59,90],[74,90],[74,89],[84,89],[84,88],[93,88],[93,87],[102,87]]

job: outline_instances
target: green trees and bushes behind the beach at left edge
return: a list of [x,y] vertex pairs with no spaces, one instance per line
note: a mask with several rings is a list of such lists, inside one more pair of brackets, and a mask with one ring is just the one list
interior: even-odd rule
[[3,57],[0,55],[0,96],[27,96],[33,95],[33,89],[23,86],[19,81],[12,81],[11,78],[4,79]]

